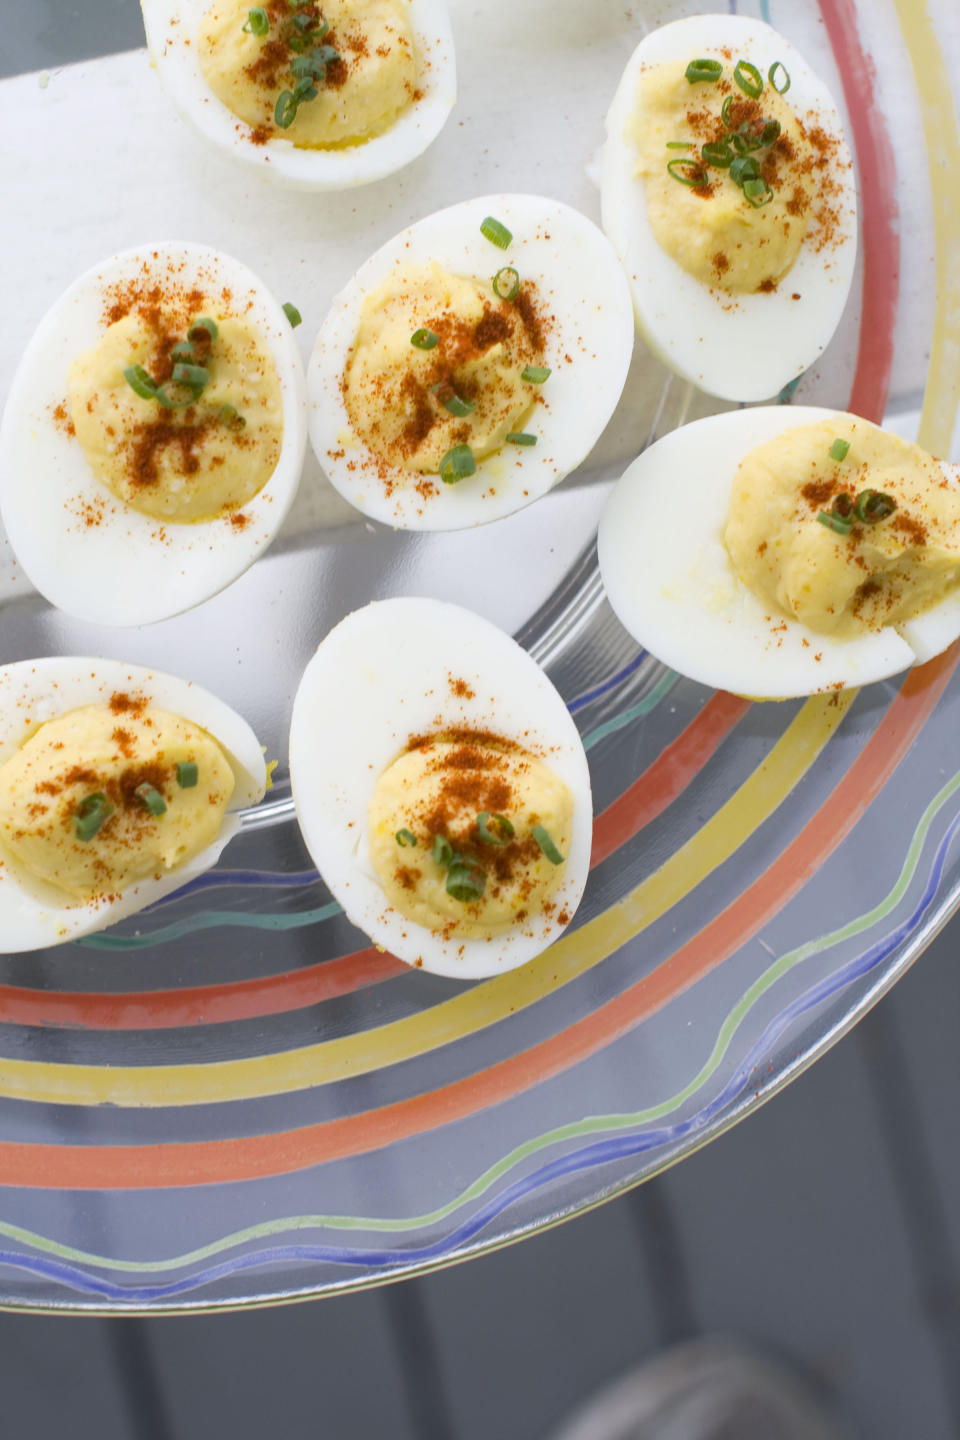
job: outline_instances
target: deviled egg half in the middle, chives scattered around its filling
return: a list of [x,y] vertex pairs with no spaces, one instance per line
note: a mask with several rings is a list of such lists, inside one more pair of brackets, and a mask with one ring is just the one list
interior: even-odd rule
[[334,304],[309,436],[350,504],[409,530],[511,514],[584,459],[623,390],[630,297],[603,233],[494,194],[412,225]]

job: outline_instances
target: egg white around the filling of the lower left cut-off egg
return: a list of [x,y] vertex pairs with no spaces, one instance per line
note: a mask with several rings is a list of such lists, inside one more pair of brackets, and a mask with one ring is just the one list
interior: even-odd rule
[[102,930],[210,870],[240,828],[237,812],[256,805],[266,788],[266,768],[246,720],[176,675],[115,660],[52,655],[0,667],[0,765],[12,759],[47,720],[81,706],[102,704],[115,693],[144,696],[151,706],[201,726],[226,753],[236,789],[216,841],[161,880],[144,880],[112,899],[88,903],[26,871],[0,841],[0,953],[39,950]]

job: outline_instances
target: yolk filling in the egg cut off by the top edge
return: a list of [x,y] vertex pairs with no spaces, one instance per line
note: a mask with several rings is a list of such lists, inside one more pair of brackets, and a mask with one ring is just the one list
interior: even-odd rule
[[360,144],[415,101],[409,0],[273,0],[259,9],[262,35],[248,0],[216,0],[197,37],[210,89],[253,128],[255,143],[282,135],[307,148]]

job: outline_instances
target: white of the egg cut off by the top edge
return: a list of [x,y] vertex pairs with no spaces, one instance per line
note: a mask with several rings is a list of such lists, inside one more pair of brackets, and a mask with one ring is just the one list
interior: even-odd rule
[[210,89],[196,43],[210,0],[141,0],[147,46],[171,101],[204,140],[268,179],[304,190],[347,190],[402,170],[436,140],[456,101],[453,33],[443,0],[409,0],[420,59],[417,99],[381,135],[307,150],[284,138],[255,144],[250,127]]

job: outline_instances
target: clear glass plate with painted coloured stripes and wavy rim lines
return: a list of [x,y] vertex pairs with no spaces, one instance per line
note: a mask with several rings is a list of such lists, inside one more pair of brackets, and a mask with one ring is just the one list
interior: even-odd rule
[[[289,194],[209,154],[144,53],[4,82],[0,132],[19,127],[32,145],[4,156],[4,256],[23,284],[0,382],[60,289],[125,245],[180,236],[246,259],[301,308],[307,353],[356,264],[432,209],[525,189],[597,217],[587,170],[619,73],[652,24],[699,9],[455,0],[461,99],[446,131],[393,180],[338,196]],[[780,399],[887,415],[947,454],[956,9],[744,9],[830,84],[861,179],[848,314]],[[119,115],[135,117],[137,147]],[[714,408],[638,347],[589,462],[531,510],[453,536],[357,518],[311,459],[271,554],[142,631],[52,611],[3,554],[0,660],[92,652],[201,680],[281,766],[217,871],[111,932],[3,959],[0,1302],[235,1306],[502,1244],[733,1125],[920,953],[960,893],[957,652],[859,693],[751,706],[638,654],[604,603],[593,534],[612,481]],[[484,984],[409,972],[366,945],[311,870],[284,779],[314,647],[350,609],[397,593],[466,602],[518,634],[590,756],[596,842],[576,924]]]

